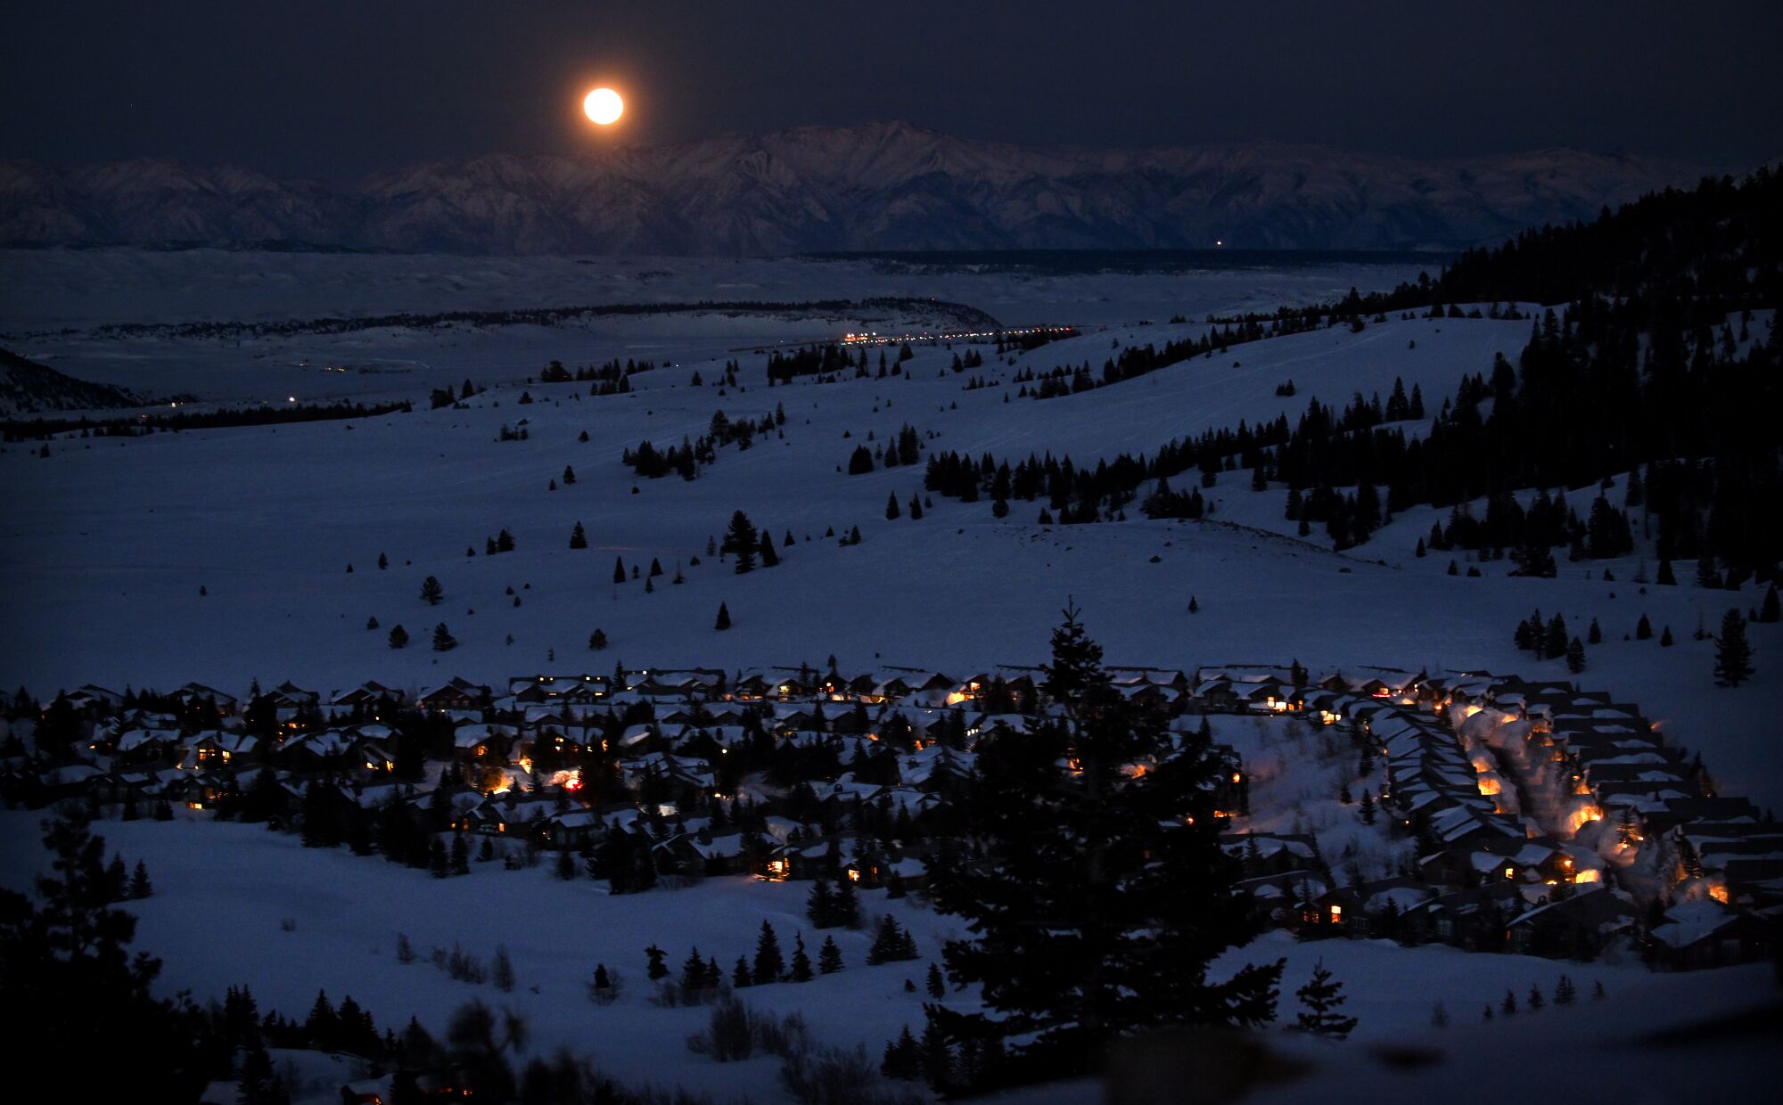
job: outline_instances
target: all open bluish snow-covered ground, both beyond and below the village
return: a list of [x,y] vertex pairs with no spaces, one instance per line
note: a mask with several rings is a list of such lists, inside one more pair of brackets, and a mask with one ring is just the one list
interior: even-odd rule
[[[831,654],[842,670],[911,665],[965,675],[986,665],[1043,659],[1066,597],[1082,606],[1111,663],[1193,668],[1300,659],[1314,670],[1394,665],[1562,679],[1562,661],[1535,661],[1512,645],[1516,624],[1541,608],[1544,617],[1564,613],[1574,633],[1592,618],[1601,624],[1605,640],[1589,649],[1580,684],[1639,702],[1678,743],[1703,752],[1724,793],[1783,807],[1774,741],[1783,627],[1751,626],[1758,675],[1738,690],[1713,686],[1713,645],[1692,640],[1699,622],[1719,626],[1728,606],[1756,606],[1760,595],[1751,586],[1731,595],[1649,585],[1642,593],[1633,583],[1637,558],[1589,570],[1562,565],[1557,579],[1512,579],[1508,561],[1480,565],[1482,577],[1448,576],[1450,554],[1412,554],[1437,517],[1430,510],[1409,510],[1369,544],[1337,554],[1323,533],[1293,536],[1293,522],[1282,519],[1284,490],[1252,492],[1248,472],[1228,472],[1204,490],[1214,504],[1209,520],[1136,517],[1077,528],[1036,524],[1036,503],[1011,503],[1009,517],[998,520],[990,503],[941,497],[911,520],[920,465],[843,474],[849,453],[868,435],[884,442],[906,422],[927,451],[993,453],[1011,462],[1050,451],[1084,462],[1150,451],[1239,419],[1255,424],[1287,413],[1293,421],[1309,397],[1341,406],[1355,392],[1385,394],[1396,376],[1407,389],[1417,383],[1426,406],[1435,408],[1462,374],[1487,372],[1494,353],[1514,356],[1528,323],[1394,319],[1360,333],[1337,328],[1032,401],[1016,399],[1007,383],[963,385],[970,376],[1007,381],[1016,367],[1047,371],[1088,360],[1098,371],[1114,346],[1161,346],[1200,332],[1164,324],[1171,314],[1200,317],[1332,298],[1352,283],[1382,287],[1405,273],[1023,280],[884,276],[854,262],[653,264],[200,251],[0,255],[9,292],[0,330],[75,326],[73,335],[36,337],[20,348],[73,374],[143,390],[259,397],[262,390],[287,394],[301,358],[358,356],[426,362],[428,371],[353,376],[371,385],[341,385],[344,374],[314,376],[317,390],[305,397],[376,390],[426,406],[426,389],[448,380],[474,376],[492,385],[467,410],[57,440],[48,458],[37,456],[36,444],[0,446],[7,504],[0,515],[0,686],[23,684],[48,697],[84,683],[123,690],[200,681],[242,693],[259,677],[264,686],[292,679],[328,693],[364,679],[414,690],[451,675],[499,684],[515,674],[608,672],[615,661],[629,668],[738,668],[822,665]],[[264,348],[87,333],[111,321],[883,294],[959,301],[1011,324],[1077,323],[1086,333],[1023,355],[1015,367],[998,365],[984,346],[982,367],[952,374],[952,351],[918,346],[895,378],[774,389],[765,387],[754,346],[817,337],[811,330],[818,323],[840,333],[845,323],[653,315],[578,328],[392,330],[330,339],[335,344],[289,339]],[[1139,319],[1155,324],[1141,326]],[[590,397],[588,385],[521,383],[553,356],[572,367],[612,356],[669,360],[674,367],[637,376],[637,390],[612,397]],[[872,356],[877,362],[877,353]],[[257,378],[255,358],[278,371]],[[744,387],[720,394],[719,367],[729,358],[742,362]],[[690,385],[694,371],[704,376],[703,387]],[[1289,378],[1298,394],[1277,396]],[[276,389],[269,387],[275,381]],[[535,403],[521,405],[522,390]],[[777,406],[786,415],[785,437],[758,438],[749,451],[724,447],[697,481],[638,479],[620,463],[620,453],[644,438],[663,447],[697,437],[719,410],[760,419]],[[503,426],[522,424],[526,440],[497,440]],[[581,442],[585,431],[588,440]],[[576,472],[572,485],[563,481],[567,465]],[[1569,501],[1583,512],[1594,494],[1569,488]],[[902,504],[895,520],[884,517],[888,495]],[[776,538],[793,535],[779,567],[736,576],[706,554],[708,538],[724,531],[735,510]],[[578,520],[588,533],[587,551],[569,549]],[[829,529],[843,535],[854,526],[863,535],[859,545],[826,538]],[[514,535],[515,551],[485,556],[485,540],[501,529]],[[1651,572],[1651,545],[1642,545]],[[465,556],[467,547],[476,554]],[[389,556],[389,570],[378,570],[380,552]],[[653,593],[644,579],[615,585],[615,558],[628,570],[647,569],[654,558],[667,574],[654,579]],[[1614,569],[1614,583],[1601,579],[1605,567]],[[686,581],[670,585],[678,569]],[[1680,563],[1678,577],[1689,581],[1690,569]],[[426,576],[444,585],[446,601],[437,608],[419,599]],[[1191,597],[1198,604],[1193,615]],[[727,633],[713,631],[720,602],[735,622]],[[1655,633],[1671,626],[1676,647],[1624,640],[1642,613]],[[367,631],[373,617],[380,627]],[[449,626],[456,651],[428,651],[437,622]],[[414,638],[405,651],[387,645],[396,624]],[[606,652],[587,649],[597,627],[612,642]],[[1255,743],[1246,756],[1259,763],[1269,752],[1262,731],[1220,738]],[[1319,800],[1328,806],[1330,795]],[[1312,804],[1307,809],[1307,816],[1321,816]],[[146,857],[160,888],[141,904],[141,943],[168,961],[169,987],[209,996],[250,982],[262,1007],[287,1012],[326,987],[335,996],[353,993],[380,1023],[412,1012],[439,1023],[462,1000],[494,994],[428,966],[398,966],[396,930],[423,948],[458,939],[485,955],[506,943],[522,986],[499,998],[528,1009],[540,1050],[571,1043],[626,1080],[674,1080],[722,1091],[720,1098],[735,1091],[774,1100],[770,1062],[719,1068],[686,1052],[681,1041],[703,1014],[644,1002],[642,948],[656,941],[674,964],[697,943],[729,964],[752,946],[763,918],[790,945],[792,930],[802,927],[802,888],[708,880],[674,898],[667,891],[608,898],[587,880],[558,884],[544,870],[478,868],[471,879],[433,880],[344,852],[305,852],[292,838],[239,825],[141,822],[102,831],[127,859]],[[4,880],[18,884],[37,863],[30,820],[0,818],[0,836],[7,843]],[[875,900],[872,909],[886,905]],[[892,909],[915,925],[929,957],[954,930],[949,920],[909,904]],[[294,932],[280,930],[283,918],[296,923]],[[842,977],[751,991],[751,1002],[802,1009],[824,1043],[859,1039],[877,1048],[902,1023],[920,1019],[920,1003],[902,991],[902,980],[920,984],[922,968],[867,970],[859,966],[867,937],[845,939],[850,970]],[[301,971],[289,970],[294,954]],[[1245,954],[1287,955],[1289,993],[1323,954],[1353,994],[1360,1035],[1382,1041],[1428,1025],[1435,1002],[1448,1005],[1455,1034],[1507,986],[1519,994],[1530,984],[1546,987],[1560,970],[1546,961],[1441,948],[1294,946],[1273,937]],[[583,996],[581,984],[597,961],[631,978],[620,1005],[599,1009]],[[1603,978],[1612,1003],[1624,994],[1664,1003],[1680,993],[1708,994],[1703,1000],[1712,1003],[1730,977],[1565,970],[1582,989]],[[538,986],[537,994],[531,986]]]

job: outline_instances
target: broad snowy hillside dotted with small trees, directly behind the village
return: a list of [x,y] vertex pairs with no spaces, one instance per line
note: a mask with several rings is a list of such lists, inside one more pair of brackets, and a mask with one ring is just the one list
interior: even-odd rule
[[[770,337],[772,324],[751,326],[754,340]],[[785,326],[788,337],[809,337],[808,321]],[[0,552],[0,611],[25,629],[9,638],[0,681],[48,693],[87,681],[200,679],[239,692],[255,677],[323,688],[366,677],[421,686],[453,674],[499,681],[514,672],[604,670],[615,658],[633,667],[727,668],[820,663],[831,654],[843,665],[1027,663],[1039,658],[1066,595],[1123,663],[1298,656],[1327,667],[1555,677],[1564,672],[1558,661],[1533,661],[1510,640],[1516,622],[1541,608],[1578,626],[1603,624],[1606,640],[1592,651],[1587,683],[1640,700],[1681,743],[1701,749],[1731,791],[1783,804],[1762,740],[1776,686],[1763,658],[1779,643],[1776,627],[1753,626],[1760,677],[1735,692],[1712,686],[1712,645],[1690,640],[1699,620],[1715,626],[1728,602],[1747,606],[1756,595],[1692,588],[1637,595],[1635,585],[1573,570],[1553,581],[1512,579],[1505,561],[1483,565],[1482,579],[1446,576],[1446,558],[1410,556],[1428,512],[1409,512],[1339,556],[1268,533],[1291,533],[1280,520],[1282,492],[1248,490],[1245,472],[1207,492],[1216,504],[1211,520],[1089,528],[1038,526],[1034,506],[1023,503],[997,520],[984,503],[941,497],[925,503],[922,520],[908,510],[888,520],[888,497],[908,504],[922,490],[922,469],[843,474],[868,435],[883,442],[904,424],[925,449],[1011,460],[1050,451],[1082,462],[1239,419],[1293,419],[1311,396],[1343,405],[1353,392],[1385,392],[1394,378],[1421,385],[1437,405],[1462,374],[1485,371],[1494,353],[1514,355],[1526,326],[1417,319],[1360,333],[1334,328],[1034,401],[1015,397],[1011,387],[963,390],[974,374],[997,378],[995,362],[954,374],[947,371],[954,353],[940,346],[918,346],[900,376],[768,389],[760,355],[733,353],[724,348],[731,337],[670,321],[628,355],[676,367],[635,378],[628,396],[590,397],[587,385],[569,383],[508,385],[467,410],[66,440],[48,458],[11,446],[0,453],[14,506]],[[1163,344],[1195,330],[1095,330],[1023,355],[1000,376],[1082,360],[1098,367],[1118,344]],[[537,346],[514,342],[512,332],[373,340],[387,355],[431,342],[449,365],[446,380],[514,380],[537,371],[547,351],[571,364],[596,358],[576,356],[563,333],[533,337]],[[519,364],[515,346],[528,349]],[[620,351],[590,348],[597,356]],[[194,342],[173,356],[182,349],[205,353]],[[744,387],[720,394],[719,367],[733,356],[742,360]],[[703,387],[690,385],[695,371]],[[1298,394],[1277,396],[1287,380]],[[537,401],[521,405],[524,390]],[[786,415],[785,437],[745,453],[722,449],[694,483],[640,479],[619,460],[645,438],[665,447],[697,437],[719,410],[760,419],[776,408]],[[522,421],[526,440],[496,440],[503,426]],[[588,442],[579,440],[585,431]],[[562,483],[565,467],[574,467],[574,485]],[[793,536],[781,567],[735,576],[706,554],[708,538],[735,510],[776,538]],[[585,551],[569,549],[576,522],[588,531]],[[863,544],[840,547],[836,536],[856,526]],[[485,540],[499,529],[515,536],[517,551],[485,556]],[[826,536],[831,531],[836,536]],[[380,554],[389,570],[376,569]],[[642,579],[615,585],[615,560],[628,572],[658,560],[686,583],[674,586],[665,576],[654,593]],[[1637,565],[1614,567],[1630,579]],[[446,588],[439,608],[419,599],[426,576]],[[1191,597],[1200,606],[1193,617]],[[735,618],[729,633],[711,629],[720,602]],[[1623,642],[1642,613],[1672,626],[1680,645],[1660,652],[1653,642]],[[367,618],[382,631],[367,631]],[[460,642],[455,652],[385,643],[394,624],[424,640],[437,622]],[[608,634],[612,652],[588,652],[594,629]]]

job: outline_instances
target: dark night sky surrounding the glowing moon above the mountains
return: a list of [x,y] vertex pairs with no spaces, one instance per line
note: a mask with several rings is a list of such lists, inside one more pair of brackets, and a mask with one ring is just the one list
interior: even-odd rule
[[[1366,14],[1359,14],[1366,12]],[[346,182],[808,123],[1107,146],[1421,157],[1783,155],[1783,4],[9,5],[0,157],[141,155]],[[596,135],[581,93],[628,119]]]

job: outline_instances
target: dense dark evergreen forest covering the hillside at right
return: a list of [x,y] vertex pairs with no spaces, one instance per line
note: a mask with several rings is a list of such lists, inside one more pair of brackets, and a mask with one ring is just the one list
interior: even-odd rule
[[[1480,529],[1458,526],[1442,542],[1496,542],[1496,552],[1517,547],[1507,492],[1541,487],[1589,487],[1621,472],[1630,481],[1626,506],[1640,506],[1656,529],[1662,558],[1712,556],[1735,579],[1774,574],[1783,560],[1783,519],[1753,503],[1783,494],[1783,426],[1762,413],[1783,399],[1779,346],[1754,326],[1754,308],[1778,299],[1778,258],[1783,242],[1767,216],[1783,201],[1779,176],[1760,171],[1744,184],[1705,182],[1696,192],[1649,196],[1589,226],[1530,232],[1496,251],[1475,251],[1444,274],[1385,296],[1350,296],[1323,317],[1368,310],[1407,310],[1453,303],[1457,296],[1517,299],[1539,292],[1544,301],[1569,301],[1532,323],[1517,362],[1500,356],[1491,376],[1469,378],[1444,399],[1425,437],[1391,424],[1403,410],[1416,417],[1416,390],[1380,405],[1352,403],[1339,415],[1309,406],[1289,431],[1284,421],[1239,426],[1173,442],[1152,458],[1120,456],[1095,471],[1070,469],[1068,458],[1018,463],[1011,469],[1015,497],[1047,494],[1063,520],[1120,517],[1123,503],[1146,479],[1200,467],[1204,481],[1236,467],[1261,469],[1257,479],[1280,479],[1293,490],[1375,485],[1385,508],[1458,506],[1475,499],[1500,503],[1507,515]],[[1442,314],[1441,308],[1435,308]],[[1321,312],[1300,314],[1302,323]],[[1450,312],[1458,314],[1458,312]],[[1293,314],[1282,317],[1294,317]],[[1261,323],[1259,323],[1261,326]],[[1180,353],[1127,351],[1129,367],[1168,362]],[[1104,374],[1125,378],[1120,362]],[[1075,374],[1088,378],[1088,365]],[[1064,376],[1056,378],[1066,387]],[[1389,412],[1391,408],[1391,412]],[[965,465],[941,458],[933,490],[966,497]],[[975,495],[1002,471],[993,458],[965,462],[975,469]],[[957,471],[949,471],[957,469]],[[993,495],[995,497],[995,495]],[[1598,522],[1562,515],[1541,522],[1523,544],[1551,540],[1574,554],[1617,554],[1631,540],[1626,515],[1608,503]],[[1362,526],[1346,517],[1343,533],[1355,542]],[[1524,524],[1528,519],[1524,519]]]

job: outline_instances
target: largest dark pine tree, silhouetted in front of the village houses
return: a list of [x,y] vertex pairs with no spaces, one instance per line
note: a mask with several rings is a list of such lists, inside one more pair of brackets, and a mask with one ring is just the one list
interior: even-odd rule
[[[947,943],[947,975],[981,989],[982,1012],[931,1005],[929,1027],[941,1039],[1015,1037],[1013,1076],[1039,1078],[1089,1071],[1111,1039],[1145,1027],[1271,1019],[1280,964],[1207,980],[1253,925],[1212,816],[1223,759],[1200,738],[1170,745],[1120,695],[1075,608],[1052,634],[1041,690],[1056,713],[979,738],[961,809],[982,859],[931,875],[936,905],[974,934]],[[1120,765],[1136,756],[1159,766],[1127,777]]]

